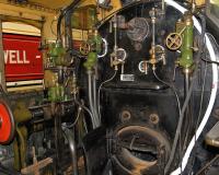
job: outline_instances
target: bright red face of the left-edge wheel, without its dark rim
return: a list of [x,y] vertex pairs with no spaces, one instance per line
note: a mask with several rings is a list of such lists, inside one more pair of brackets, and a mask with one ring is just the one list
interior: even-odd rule
[[11,136],[12,124],[7,107],[0,103],[0,143],[8,142]]

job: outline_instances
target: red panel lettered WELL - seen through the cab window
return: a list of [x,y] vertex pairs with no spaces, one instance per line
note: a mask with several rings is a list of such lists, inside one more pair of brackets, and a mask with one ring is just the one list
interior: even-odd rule
[[41,37],[3,34],[7,81],[43,79]]

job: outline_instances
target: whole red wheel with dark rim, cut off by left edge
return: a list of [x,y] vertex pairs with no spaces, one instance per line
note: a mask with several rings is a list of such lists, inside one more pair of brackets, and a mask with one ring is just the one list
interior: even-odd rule
[[0,144],[7,144],[14,137],[14,118],[9,105],[0,100]]

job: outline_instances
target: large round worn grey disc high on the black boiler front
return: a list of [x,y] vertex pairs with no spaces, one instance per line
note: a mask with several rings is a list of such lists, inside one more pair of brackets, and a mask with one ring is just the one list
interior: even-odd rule
[[149,35],[149,24],[143,18],[135,18],[128,22],[127,35],[131,40],[142,42]]

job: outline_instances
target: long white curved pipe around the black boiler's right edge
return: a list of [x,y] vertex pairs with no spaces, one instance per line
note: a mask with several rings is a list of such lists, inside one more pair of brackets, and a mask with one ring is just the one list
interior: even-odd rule
[[[173,0],[165,0],[165,2],[169,5],[177,9],[182,13],[185,13],[187,11],[185,8],[183,8],[182,5],[180,5],[177,2],[175,2]],[[199,33],[201,33],[201,26],[200,26],[198,20],[194,16],[193,21],[194,21],[195,27],[198,30]],[[210,55],[210,59],[212,61],[217,61],[216,52],[214,50],[214,47],[210,43],[208,35],[205,35],[205,40],[206,40],[207,49],[208,49],[209,55]],[[183,172],[185,170],[187,162],[188,162],[188,159],[189,159],[189,155],[191,155],[191,152],[192,152],[192,150],[195,145],[195,142],[199,138],[200,133],[203,132],[203,130],[204,130],[204,128],[205,128],[205,126],[208,121],[208,118],[210,116],[210,113],[212,110],[212,107],[214,107],[214,104],[215,104],[215,101],[216,101],[216,96],[217,96],[217,89],[218,89],[218,69],[217,69],[217,66],[212,63],[212,89],[211,89],[211,94],[210,94],[208,107],[206,109],[205,116],[204,116],[197,131],[195,132],[195,136],[193,136],[193,139],[191,140],[191,142],[189,142],[189,144],[186,149],[186,152],[183,156],[182,166],[177,167],[174,172],[171,173],[171,175],[180,175],[181,172]]]

